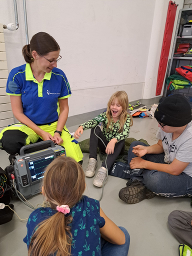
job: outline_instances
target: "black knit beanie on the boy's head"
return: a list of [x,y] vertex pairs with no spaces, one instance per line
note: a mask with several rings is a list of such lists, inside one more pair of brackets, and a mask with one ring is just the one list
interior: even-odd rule
[[154,117],[157,121],[173,127],[181,127],[192,119],[189,102],[180,93],[175,93],[158,104]]

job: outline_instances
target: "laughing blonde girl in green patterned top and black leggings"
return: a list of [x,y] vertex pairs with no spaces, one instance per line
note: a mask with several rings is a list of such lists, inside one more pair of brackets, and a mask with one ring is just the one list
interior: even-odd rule
[[[130,126],[132,126],[132,116],[127,113],[128,96],[125,91],[113,93],[107,103],[107,110],[99,116],[81,124],[74,133],[75,138],[79,138],[83,130],[91,128],[89,143],[89,161],[86,166],[85,176],[92,177],[97,167],[97,146],[101,152],[107,154],[107,169],[113,164],[119,154],[124,151],[124,141],[128,137]],[[102,119],[102,120],[101,120]],[[102,131],[97,126],[102,121]],[[105,144],[94,134],[101,138]],[[105,161],[98,169],[93,180],[95,186],[101,187],[107,174]]]

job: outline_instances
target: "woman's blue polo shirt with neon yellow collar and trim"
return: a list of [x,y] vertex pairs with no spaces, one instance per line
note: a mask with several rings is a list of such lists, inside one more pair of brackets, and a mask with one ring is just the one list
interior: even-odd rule
[[30,64],[13,68],[6,84],[6,94],[21,96],[23,113],[36,124],[56,121],[59,115],[58,99],[71,95],[66,75],[54,67],[38,82]]

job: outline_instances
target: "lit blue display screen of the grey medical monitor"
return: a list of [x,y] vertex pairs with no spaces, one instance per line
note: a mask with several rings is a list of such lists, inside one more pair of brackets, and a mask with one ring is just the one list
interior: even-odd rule
[[54,155],[48,155],[33,161],[28,161],[31,180],[35,181],[44,177],[44,168],[54,159]]

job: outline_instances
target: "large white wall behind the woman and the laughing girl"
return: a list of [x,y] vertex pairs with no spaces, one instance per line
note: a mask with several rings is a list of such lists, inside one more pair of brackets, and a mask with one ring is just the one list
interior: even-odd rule
[[[60,45],[58,68],[72,90],[69,116],[105,107],[116,90],[124,89],[129,101],[155,96],[167,6],[168,0],[26,0],[29,40],[45,31]],[[9,71],[24,63],[21,0],[17,8],[18,30],[4,29]],[[10,22],[13,0],[0,0],[0,23]]]

